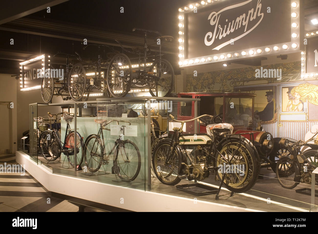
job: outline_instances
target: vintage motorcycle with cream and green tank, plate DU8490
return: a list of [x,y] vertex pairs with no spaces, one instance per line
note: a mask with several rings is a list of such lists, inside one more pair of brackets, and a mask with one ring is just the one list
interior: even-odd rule
[[[186,121],[169,116],[181,126],[174,127],[172,138],[160,140],[154,149],[152,164],[159,181],[167,185],[176,185],[181,179],[202,181],[214,171],[221,181],[218,192],[223,184],[232,193],[243,193],[253,187],[260,163],[252,141],[241,134],[232,134],[233,126],[222,123],[220,115],[202,115]],[[206,126],[207,134],[182,134],[184,123],[202,117],[210,117],[214,123]],[[231,168],[230,172],[224,167]]]

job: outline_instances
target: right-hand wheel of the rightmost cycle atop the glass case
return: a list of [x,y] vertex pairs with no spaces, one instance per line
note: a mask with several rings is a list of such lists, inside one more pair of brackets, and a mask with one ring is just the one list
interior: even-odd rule
[[[156,68],[157,68],[158,64],[159,64],[159,60],[154,61],[153,64],[151,65],[151,67],[149,68],[149,72],[153,72],[154,67],[156,66]],[[168,60],[161,59],[161,67],[163,70],[161,71],[161,74],[159,74],[160,75],[159,80],[162,83],[166,83],[165,86],[169,87],[169,88],[164,89],[163,86],[160,85],[160,83],[158,83],[156,85],[155,82],[153,82],[154,87],[152,87],[151,84],[149,84],[149,93],[151,94],[151,96],[167,97],[170,95],[172,90],[174,90],[174,88],[175,88],[175,73],[173,71],[172,65],[170,64],[170,62]],[[164,78],[163,74],[168,74],[168,75],[171,74],[171,80],[169,79],[169,77]],[[158,92],[153,91],[152,89],[158,89]],[[159,95],[158,95],[158,93],[159,93]]]

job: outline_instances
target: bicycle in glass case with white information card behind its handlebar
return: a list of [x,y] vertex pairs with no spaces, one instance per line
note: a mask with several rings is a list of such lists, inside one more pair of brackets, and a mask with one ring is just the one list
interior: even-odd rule
[[[119,122],[128,123],[124,120],[94,119],[96,124],[100,124],[97,134],[89,135],[85,140],[85,164],[90,172],[97,172],[101,165],[109,164],[113,160],[112,173],[117,174],[121,180],[133,181],[137,178],[141,168],[141,156],[137,145],[130,140],[123,140],[122,135],[114,142],[109,141],[106,147],[103,130],[110,131],[106,126],[110,123]],[[113,155],[113,158],[111,157]]]

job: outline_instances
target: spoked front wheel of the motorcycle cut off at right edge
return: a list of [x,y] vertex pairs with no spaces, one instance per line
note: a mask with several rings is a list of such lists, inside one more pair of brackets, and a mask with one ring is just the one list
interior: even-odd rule
[[[283,188],[292,189],[299,184],[300,177],[296,178],[295,168],[297,167],[295,167],[294,163],[297,162],[288,156],[281,157],[277,162],[276,176]],[[300,166],[298,168],[300,168]],[[298,174],[300,175],[301,173],[298,172]]]

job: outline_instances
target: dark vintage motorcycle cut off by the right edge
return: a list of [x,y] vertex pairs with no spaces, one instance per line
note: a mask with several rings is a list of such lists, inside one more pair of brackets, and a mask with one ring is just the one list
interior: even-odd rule
[[[288,139],[282,138],[281,147],[284,148],[282,157],[277,162],[276,175],[278,182],[283,188],[295,188],[300,183],[318,182],[318,176],[315,181],[311,180],[311,173],[318,167],[318,133],[307,141],[299,140],[289,143]],[[310,143],[312,142],[312,143]],[[303,147],[310,147],[302,152]]]

